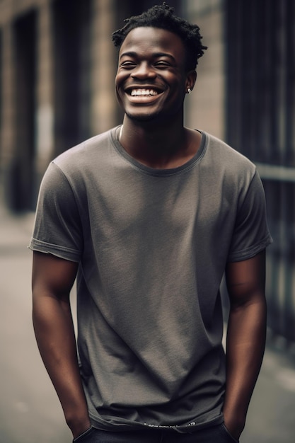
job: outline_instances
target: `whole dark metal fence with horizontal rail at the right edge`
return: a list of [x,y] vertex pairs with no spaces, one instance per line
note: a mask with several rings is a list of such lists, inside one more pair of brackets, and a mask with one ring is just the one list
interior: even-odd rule
[[258,166],[274,243],[268,323],[295,341],[295,1],[226,1],[227,140]]

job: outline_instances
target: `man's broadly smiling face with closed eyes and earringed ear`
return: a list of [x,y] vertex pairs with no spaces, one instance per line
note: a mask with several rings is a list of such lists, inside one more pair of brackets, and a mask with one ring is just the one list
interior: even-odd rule
[[115,87],[130,119],[182,115],[185,91],[194,83],[195,71],[185,71],[185,47],[178,35],[151,27],[129,32],[120,48]]

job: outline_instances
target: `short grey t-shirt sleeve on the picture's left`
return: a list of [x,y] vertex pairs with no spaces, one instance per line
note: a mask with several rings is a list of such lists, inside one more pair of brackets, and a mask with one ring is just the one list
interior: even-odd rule
[[64,173],[50,163],[37,200],[33,237],[29,248],[79,262],[83,236],[79,208]]

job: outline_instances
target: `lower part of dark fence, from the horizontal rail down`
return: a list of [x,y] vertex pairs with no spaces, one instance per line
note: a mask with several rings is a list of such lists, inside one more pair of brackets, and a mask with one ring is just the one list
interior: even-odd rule
[[270,231],[267,251],[268,324],[274,334],[295,341],[295,168],[259,165]]

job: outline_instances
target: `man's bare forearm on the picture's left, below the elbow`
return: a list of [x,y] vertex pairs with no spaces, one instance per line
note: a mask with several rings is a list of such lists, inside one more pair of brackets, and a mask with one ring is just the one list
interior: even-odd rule
[[37,345],[74,437],[90,426],[81,384],[69,302],[50,294],[33,297]]

